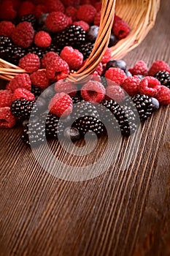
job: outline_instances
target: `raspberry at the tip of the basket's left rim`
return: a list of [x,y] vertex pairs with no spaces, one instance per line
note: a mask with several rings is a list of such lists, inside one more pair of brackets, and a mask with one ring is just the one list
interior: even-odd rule
[[34,53],[27,53],[20,59],[18,66],[25,69],[26,72],[32,73],[40,68],[39,56]]

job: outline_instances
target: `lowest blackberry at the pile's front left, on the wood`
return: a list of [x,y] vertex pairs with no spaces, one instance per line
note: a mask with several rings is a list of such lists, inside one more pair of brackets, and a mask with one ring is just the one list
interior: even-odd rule
[[39,118],[39,121],[26,124],[21,140],[27,146],[39,146],[45,142],[45,125],[41,121],[41,118]]

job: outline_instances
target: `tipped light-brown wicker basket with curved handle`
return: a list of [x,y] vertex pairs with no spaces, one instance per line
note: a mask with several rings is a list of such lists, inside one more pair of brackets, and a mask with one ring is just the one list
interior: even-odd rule
[[[125,39],[121,39],[111,49],[112,59],[121,59],[130,50],[142,42],[155,24],[155,18],[161,0],[103,0],[101,23],[93,51],[85,65],[76,73],[69,75],[73,81],[82,80],[92,74],[98,66],[107,49],[110,31],[115,13],[125,20],[131,32]],[[11,80],[18,73],[26,72],[13,64],[0,59],[0,78]]]

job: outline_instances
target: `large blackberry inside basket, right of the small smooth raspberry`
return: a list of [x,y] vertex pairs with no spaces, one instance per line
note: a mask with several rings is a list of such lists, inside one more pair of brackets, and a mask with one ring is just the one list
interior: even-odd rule
[[80,26],[67,26],[65,30],[56,35],[54,41],[62,48],[66,45],[77,48],[85,42],[85,31]]

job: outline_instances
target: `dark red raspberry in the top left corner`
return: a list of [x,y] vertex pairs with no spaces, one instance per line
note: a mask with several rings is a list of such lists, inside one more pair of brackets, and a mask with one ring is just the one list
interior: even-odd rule
[[1,20],[14,20],[17,12],[14,10],[12,1],[2,1],[0,4],[0,19]]

